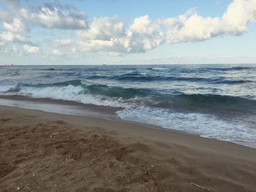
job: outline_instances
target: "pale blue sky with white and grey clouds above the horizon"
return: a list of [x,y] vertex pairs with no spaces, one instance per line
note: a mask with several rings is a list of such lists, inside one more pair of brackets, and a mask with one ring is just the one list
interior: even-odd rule
[[0,64],[256,64],[256,0],[0,0]]

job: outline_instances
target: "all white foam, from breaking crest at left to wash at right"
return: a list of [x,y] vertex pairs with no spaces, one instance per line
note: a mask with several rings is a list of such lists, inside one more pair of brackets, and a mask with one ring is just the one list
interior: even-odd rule
[[[0,93],[10,91],[13,88],[15,88],[14,85],[1,85]],[[256,129],[243,123],[222,120],[214,115],[195,112],[173,112],[162,108],[144,107],[140,105],[140,102],[138,102],[140,99],[138,98],[124,100],[116,97],[92,95],[84,91],[85,88],[81,85],[43,88],[20,85],[19,91],[14,93],[6,92],[5,94],[31,96],[33,98],[63,99],[110,107],[125,107],[124,110],[117,112],[117,115],[124,120],[147,123],[161,126],[162,128],[198,134],[202,137],[256,147]]]

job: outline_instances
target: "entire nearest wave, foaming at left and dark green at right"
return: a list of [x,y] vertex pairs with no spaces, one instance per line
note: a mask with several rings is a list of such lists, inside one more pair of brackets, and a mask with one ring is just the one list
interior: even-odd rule
[[49,84],[0,86],[0,93],[35,98],[62,99],[111,107],[148,106],[176,111],[246,113],[256,112],[256,100],[213,94],[159,93],[146,88],[86,84],[69,80]]

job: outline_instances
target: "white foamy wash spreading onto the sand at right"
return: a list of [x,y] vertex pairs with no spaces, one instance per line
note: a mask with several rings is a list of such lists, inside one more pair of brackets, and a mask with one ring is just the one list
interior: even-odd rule
[[256,147],[255,128],[243,123],[222,120],[214,115],[173,112],[154,107],[128,107],[118,111],[117,115],[124,120]]

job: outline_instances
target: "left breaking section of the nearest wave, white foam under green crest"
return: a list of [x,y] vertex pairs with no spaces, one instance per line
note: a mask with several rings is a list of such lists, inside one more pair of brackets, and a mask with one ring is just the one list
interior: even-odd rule
[[135,103],[136,96],[144,97],[148,92],[149,90],[135,88],[120,88],[95,84],[85,85],[82,80],[37,85],[18,83],[18,85],[0,86],[0,93],[3,95],[61,99],[110,107],[126,107],[127,104]]

